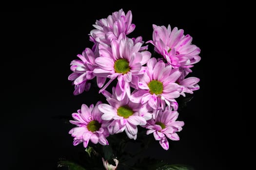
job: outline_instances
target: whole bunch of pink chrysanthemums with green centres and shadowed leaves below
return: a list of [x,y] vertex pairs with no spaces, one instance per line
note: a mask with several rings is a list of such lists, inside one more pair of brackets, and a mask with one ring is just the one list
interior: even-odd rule
[[[75,85],[74,95],[90,90],[96,82],[96,93],[102,94],[104,101],[82,104],[72,114],[70,123],[75,127],[69,134],[75,146],[82,143],[86,148],[85,159],[90,163],[84,169],[115,170],[122,165],[147,169],[141,162],[137,168],[136,163],[126,165],[125,160],[134,156],[125,150],[126,143],[135,140],[145,149],[150,141],[146,137],[154,136],[168,150],[170,140],[179,140],[177,132],[184,122],[177,121],[176,99],[199,89],[199,79],[189,77],[189,73],[200,60],[200,49],[183,30],[153,25],[152,40],[146,42],[154,46],[152,54],[141,36],[128,36],[135,24],[131,11],[125,14],[122,9],[93,26],[89,36],[94,45],[71,62],[73,73],[68,80]],[[155,169],[173,166],[160,163]],[[75,164],[62,160],[59,165]]]

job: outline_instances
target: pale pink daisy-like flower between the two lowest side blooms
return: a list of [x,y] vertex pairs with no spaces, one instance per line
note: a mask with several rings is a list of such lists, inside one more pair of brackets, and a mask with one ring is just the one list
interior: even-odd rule
[[113,87],[113,94],[103,91],[107,97],[109,104],[99,104],[98,109],[103,112],[101,119],[109,120],[108,131],[111,135],[118,134],[125,131],[130,139],[136,139],[138,128],[137,126],[145,125],[146,120],[152,118],[152,114],[141,111],[141,104],[133,103],[129,100],[127,95],[123,100],[118,101],[115,95],[115,87]]

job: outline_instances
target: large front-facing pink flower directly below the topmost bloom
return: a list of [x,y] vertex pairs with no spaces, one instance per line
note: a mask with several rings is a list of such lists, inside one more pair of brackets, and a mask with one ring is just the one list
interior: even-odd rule
[[[136,42],[136,41],[135,41]],[[130,97],[130,86],[138,88],[138,76],[142,75],[142,67],[151,57],[149,51],[141,51],[142,43],[127,38],[124,34],[111,41],[111,47],[99,44],[99,57],[95,59],[98,68],[94,69],[97,77],[107,77],[110,81],[99,91],[103,91],[114,80],[118,79],[117,99],[121,101],[125,94]]]

